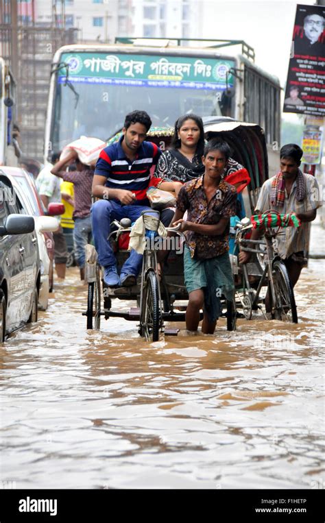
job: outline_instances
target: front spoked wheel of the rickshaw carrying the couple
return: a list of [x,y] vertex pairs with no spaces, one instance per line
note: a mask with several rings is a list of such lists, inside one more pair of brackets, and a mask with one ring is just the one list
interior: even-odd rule
[[148,271],[143,289],[140,315],[140,335],[148,341],[158,341],[160,328],[160,307],[158,281],[154,271]]

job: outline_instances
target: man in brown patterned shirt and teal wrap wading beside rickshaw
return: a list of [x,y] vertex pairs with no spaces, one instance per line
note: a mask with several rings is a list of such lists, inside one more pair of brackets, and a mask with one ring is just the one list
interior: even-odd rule
[[[227,143],[208,142],[202,162],[204,174],[180,189],[173,226],[185,232],[184,278],[189,293],[186,328],[197,331],[204,309],[202,332],[213,334],[221,314],[220,296],[232,300],[234,283],[228,254],[230,217],[236,214],[236,188],[224,182],[230,156]],[[187,210],[186,221],[182,219]]]

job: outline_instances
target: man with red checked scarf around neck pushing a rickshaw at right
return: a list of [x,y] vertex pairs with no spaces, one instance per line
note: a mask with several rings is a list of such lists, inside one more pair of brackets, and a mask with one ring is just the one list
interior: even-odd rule
[[[302,149],[294,143],[281,148],[280,171],[264,182],[255,208],[257,215],[275,210],[280,214],[293,213],[302,222],[299,228],[285,228],[282,234],[276,236],[278,254],[287,267],[293,287],[298,282],[302,267],[306,266],[304,254],[309,247],[310,222],[322,205],[317,180],[299,169],[302,154]],[[253,230],[251,239],[257,240],[263,232],[263,228]],[[239,253],[239,263],[248,263],[248,260],[249,252]]]

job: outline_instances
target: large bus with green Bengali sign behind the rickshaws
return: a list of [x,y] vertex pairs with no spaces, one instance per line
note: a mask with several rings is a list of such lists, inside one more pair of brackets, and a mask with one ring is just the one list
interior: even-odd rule
[[[136,109],[146,110],[154,126],[173,126],[190,112],[258,123],[269,154],[278,148],[280,82],[254,64],[252,53],[231,56],[221,54],[220,46],[125,40],[128,43],[66,45],[56,51],[45,161],[80,136],[108,140],[121,130],[125,114]],[[247,44],[242,47],[248,48],[252,50]],[[270,173],[278,169],[269,164]]]

